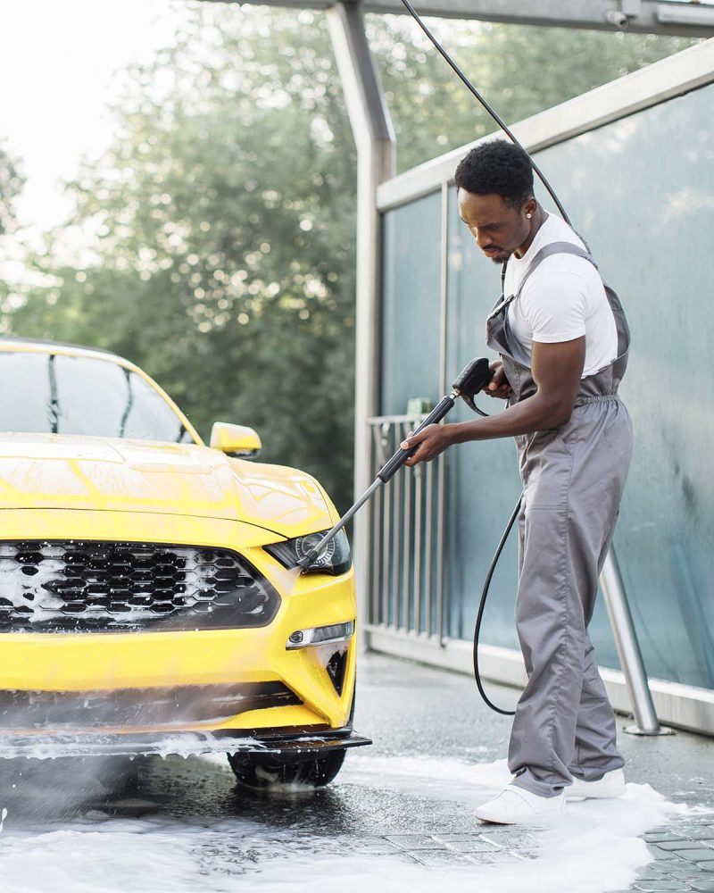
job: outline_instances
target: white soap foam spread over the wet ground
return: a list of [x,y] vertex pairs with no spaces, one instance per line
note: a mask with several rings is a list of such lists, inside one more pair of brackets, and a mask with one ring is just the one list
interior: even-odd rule
[[[343,776],[340,777],[341,780]],[[505,764],[464,764],[457,760],[354,755],[345,764],[344,782],[356,786],[395,787],[450,797],[469,812],[473,800],[493,796],[508,780]],[[567,814],[545,829],[530,831],[537,857],[505,864],[428,868],[406,864],[396,855],[355,855],[345,840],[345,855],[336,855],[335,839],[308,842],[305,830],[283,835],[276,850],[270,829],[246,834],[225,819],[213,827],[191,827],[164,821],[106,820],[85,822],[80,830],[33,836],[5,833],[0,837],[3,893],[605,893],[627,889],[635,872],[650,860],[639,835],[668,821],[686,807],[668,803],[649,785],[628,784],[615,800],[568,805]],[[299,823],[298,823],[299,824]],[[77,826],[75,825],[75,828]],[[481,826],[487,833],[491,826]],[[6,826],[7,828],[7,826]],[[404,833],[409,828],[386,828]],[[208,861],[199,854],[221,839],[235,836],[237,850],[253,837],[258,858],[233,865],[225,857]],[[294,846],[290,834],[295,837]],[[229,842],[229,841],[228,841]],[[230,847],[228,847],[228,850]],[[253,852],[256,852],[253,849]],[[214,850],[215,851],[215,850]],[[329,855],[328,855],[329,854]],[[248,871],[238,873],[241,864]],[[231,868],[236,872],[233,873]]]

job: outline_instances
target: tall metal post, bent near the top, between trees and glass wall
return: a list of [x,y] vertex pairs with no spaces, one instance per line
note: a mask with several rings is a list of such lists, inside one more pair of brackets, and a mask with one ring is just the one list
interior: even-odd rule
[[[345,91],[347,113],[357,146],[357,294],[355,318],[354,493],[370,482],[370,431],[367,420],[378,414],[380,331],[380,241],[377,188],[394,176],[394,129],[369,52],[364,16],[358,4],[337,3],[326,11],[337,70]],[[369,597],[369,512],[353,524],[357,611],[367,620]],[[358,647],[366,638],[358,625]]]

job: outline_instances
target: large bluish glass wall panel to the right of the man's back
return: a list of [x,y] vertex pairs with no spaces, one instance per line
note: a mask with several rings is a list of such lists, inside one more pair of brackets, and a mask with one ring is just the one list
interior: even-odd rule
[[[714,687],[712,105],[709,86],[538,155],[633,333],[621,394],[635,455],[615,547],[644,661],[652,676],[706,688]],[[594,639],[610,663],[602,626]]]

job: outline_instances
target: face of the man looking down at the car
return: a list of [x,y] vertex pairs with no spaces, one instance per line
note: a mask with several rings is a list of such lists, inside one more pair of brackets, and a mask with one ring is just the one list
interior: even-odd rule
[[526,213],[533,213],[529,200],[520,208],[504,202],[501,196],[476,196],[459,189],[459,214],[469,227],[477,246],[494,263],[503,263],[527,240],[530,221]]

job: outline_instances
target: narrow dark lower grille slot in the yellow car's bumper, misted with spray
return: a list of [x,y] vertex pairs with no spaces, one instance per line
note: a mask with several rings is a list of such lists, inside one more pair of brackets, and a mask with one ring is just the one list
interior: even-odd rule
[[0,691],[0,728],[81,730],[224,722],[302,702],[282,682],[112,691]]

